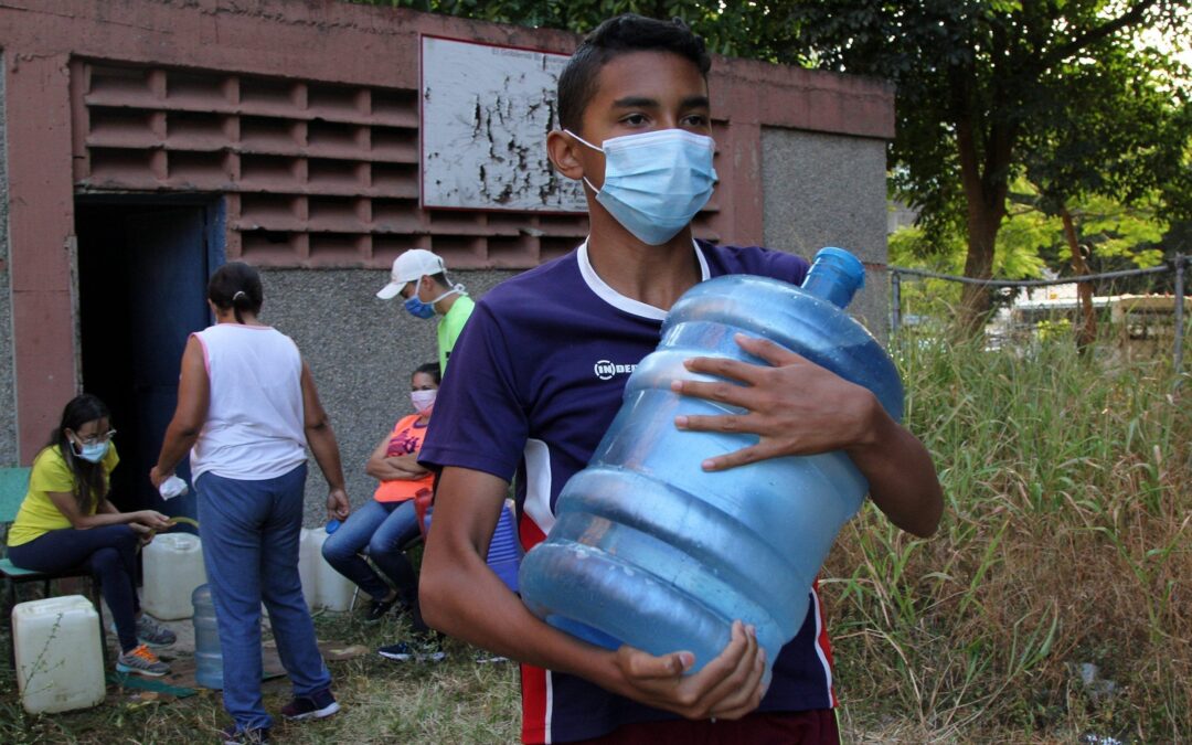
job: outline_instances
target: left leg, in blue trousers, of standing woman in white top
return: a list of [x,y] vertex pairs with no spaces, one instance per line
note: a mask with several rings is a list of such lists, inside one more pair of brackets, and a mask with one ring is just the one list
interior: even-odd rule
[[[268,728],[261,699],[261,532],[268,515],[265,482],[204,473],[194,484],[199,538],[223,656],[224,708],[244,731]],[[294,560],[297,565],[297,559]]]

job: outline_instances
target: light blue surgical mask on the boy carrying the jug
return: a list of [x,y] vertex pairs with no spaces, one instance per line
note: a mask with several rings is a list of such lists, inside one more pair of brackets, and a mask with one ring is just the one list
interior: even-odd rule
[[564,130],[583,144],[604,154],[604,185],[596,192],[609,215],[648,246],[675,237],[708,204],[716,185],[712,137],[668,129],[606,139],[597,148]]

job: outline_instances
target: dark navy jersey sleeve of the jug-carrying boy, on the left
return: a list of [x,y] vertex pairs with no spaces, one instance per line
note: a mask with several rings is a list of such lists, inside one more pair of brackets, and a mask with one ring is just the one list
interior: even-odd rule
[[516,361],[501,323],[478,303],[452,352],[418,462],[434,471],[458,466],[513,479],[529,430]]

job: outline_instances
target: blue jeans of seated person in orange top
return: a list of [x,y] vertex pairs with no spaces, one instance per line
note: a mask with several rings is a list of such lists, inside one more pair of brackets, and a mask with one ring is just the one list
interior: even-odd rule
[[370,501],[354,510],[323,542],[323,558],[373,600],[385,600],[389,585],[361,555],[368,558],[393,583],[406,604],[418,597],[418,577],[402,548],[418,535],[418,520],[414,499],[405,502]]

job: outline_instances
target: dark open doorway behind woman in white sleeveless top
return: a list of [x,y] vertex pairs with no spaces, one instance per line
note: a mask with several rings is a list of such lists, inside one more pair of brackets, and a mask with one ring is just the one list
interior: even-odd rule
[[[149,483],[178,403],[179,362],[211,323],[206,283],[224,261],[221,203],[80,198],[79,317],[83,390],[112,411],[120,465],[112,503],[195,516],[193,490],[166,502]],[[188,479],[186,464],[179,476]]]

